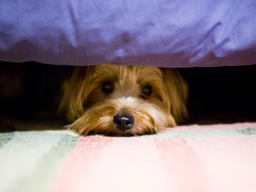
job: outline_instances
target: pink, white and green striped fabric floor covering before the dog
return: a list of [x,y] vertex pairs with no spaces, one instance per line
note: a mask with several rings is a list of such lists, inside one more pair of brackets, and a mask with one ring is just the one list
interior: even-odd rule
[[0,191],[256,191],[256,123],[140,137],[0,133]]

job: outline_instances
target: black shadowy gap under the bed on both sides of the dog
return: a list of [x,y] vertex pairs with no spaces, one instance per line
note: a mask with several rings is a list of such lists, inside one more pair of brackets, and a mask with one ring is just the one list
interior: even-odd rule
[[[0,131],[63,129],[61,82],[69,66],[0,63]],[[256,122],[256,65],[180,68],[189,84],[186,124]]]

